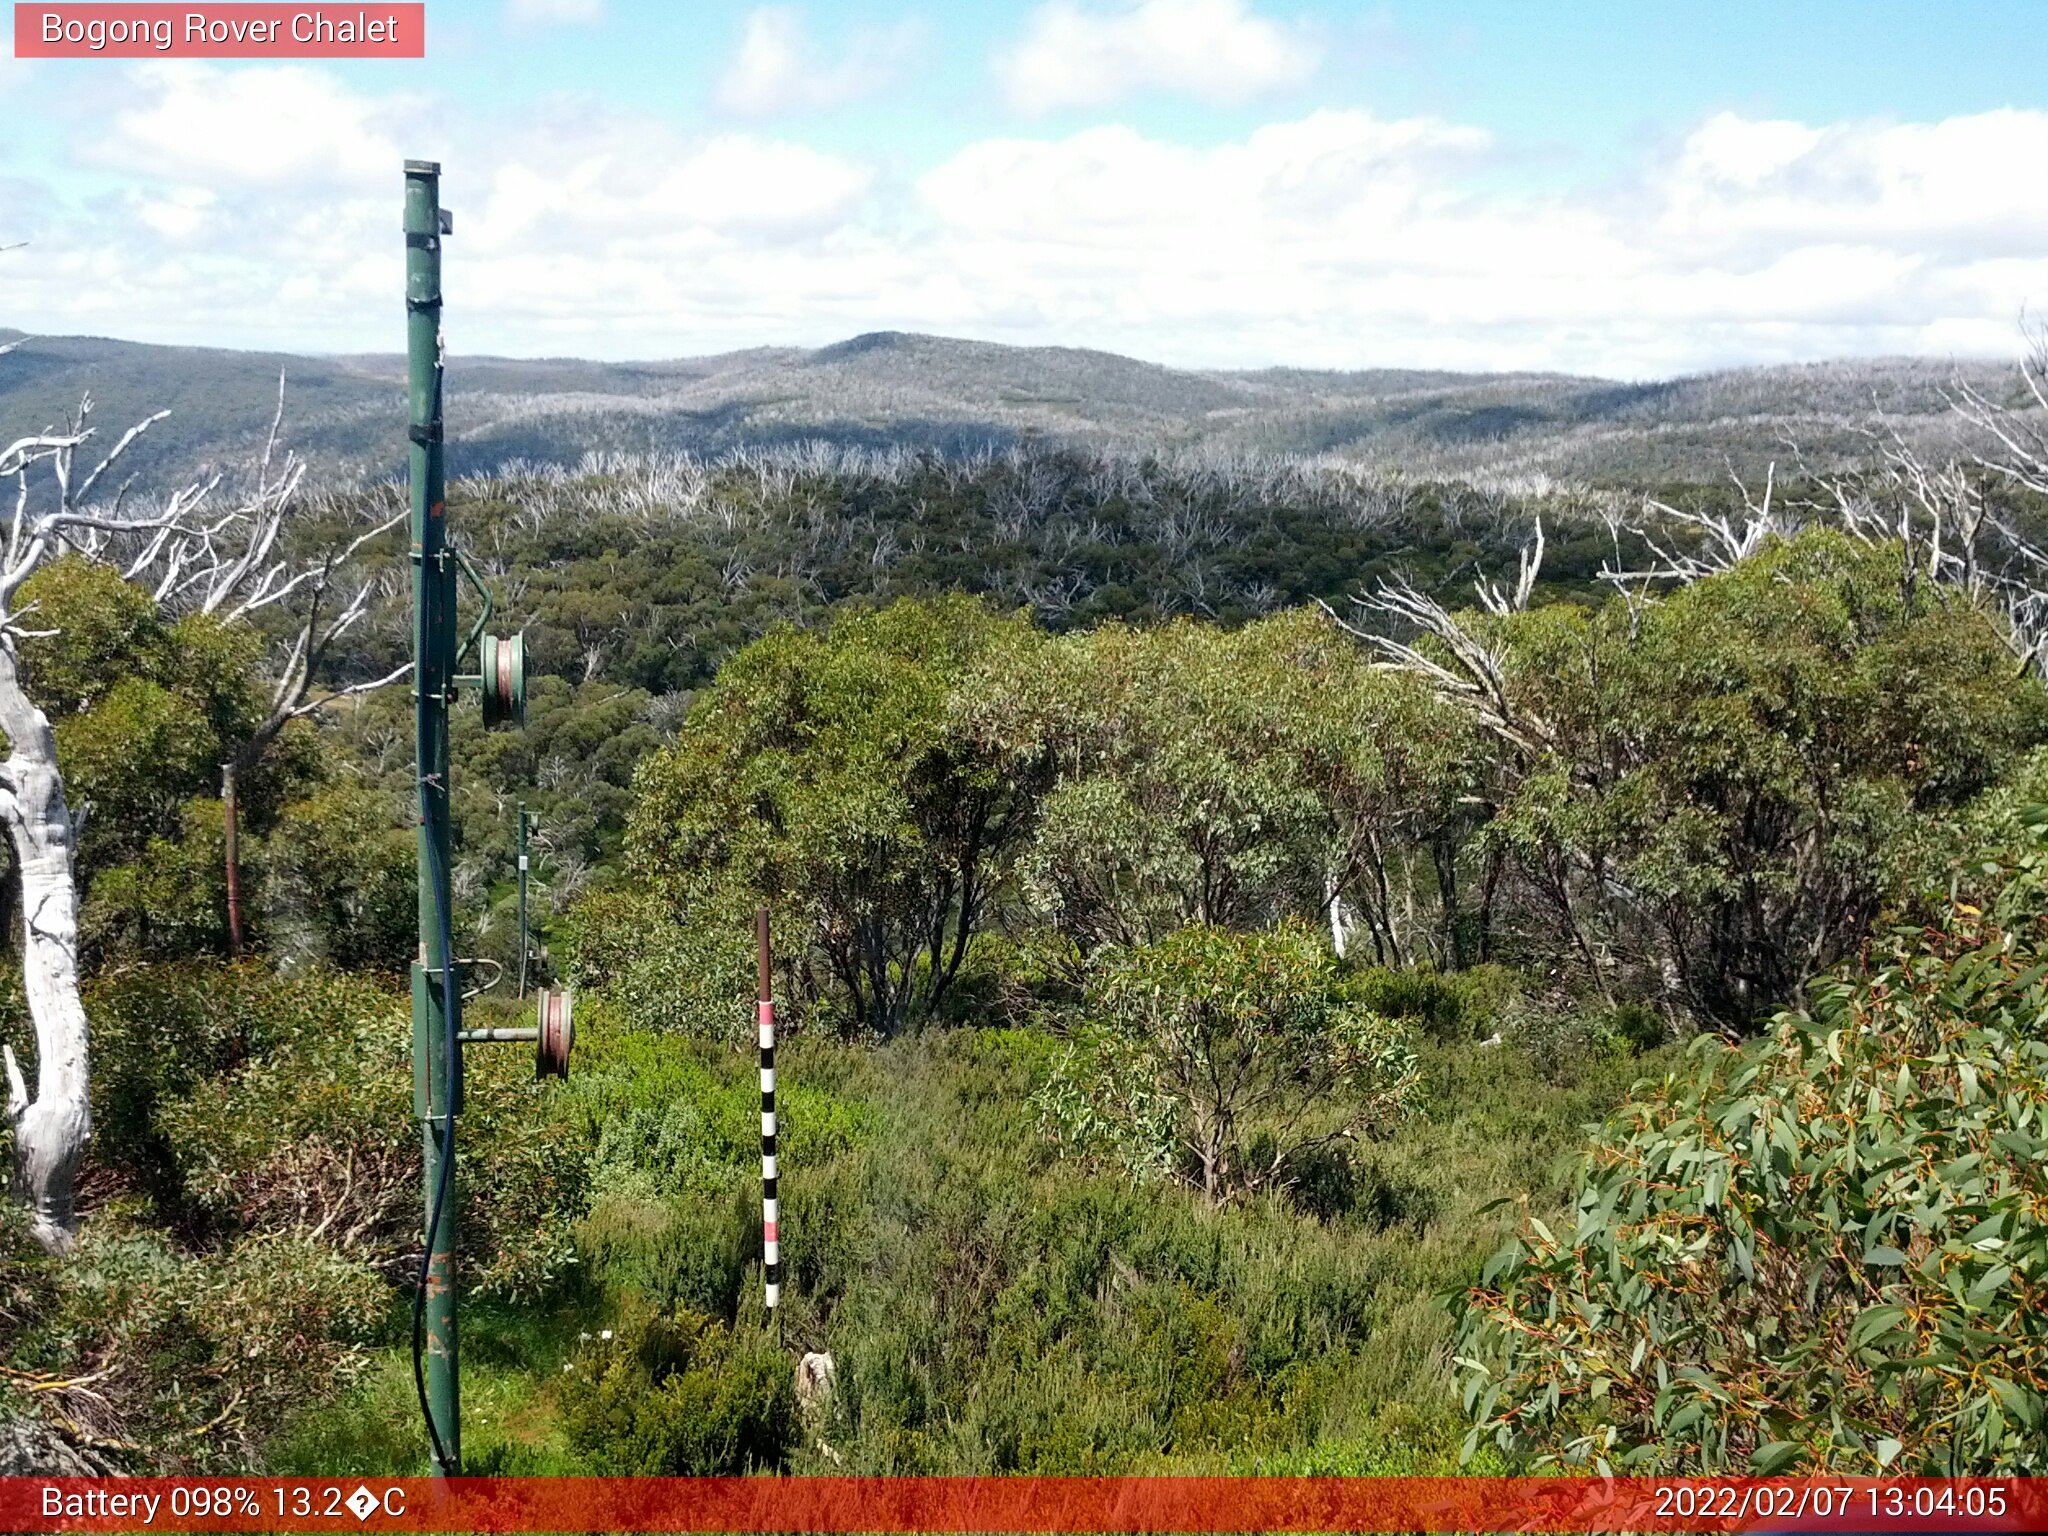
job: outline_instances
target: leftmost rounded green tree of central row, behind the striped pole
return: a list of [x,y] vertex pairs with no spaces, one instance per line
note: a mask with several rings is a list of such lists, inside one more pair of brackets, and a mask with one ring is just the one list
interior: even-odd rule
[[768,901],[811,999],[889,1034],[942,1006],[1036,778],[954,698],[1024,618],[901,600],[733,655],[641,768],[627,850],[662,918],[745,938]]

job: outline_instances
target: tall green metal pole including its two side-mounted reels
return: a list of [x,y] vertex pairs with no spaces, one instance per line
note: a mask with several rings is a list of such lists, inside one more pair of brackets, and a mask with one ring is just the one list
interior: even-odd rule
[[[475,690],[485,725],[526,723],[526,645],[520,635],[485,635],[492,594],[449,541],[442,469],[440,242],[453,219],[440,207],[440,166],[406,162],[406,393],[410,406],[408,471],[412,481],[412,666],[420,793],[420,958],[412,967],[412,1100],[420,1118],[426,1171],[426,1243],[412,1311],[412,1374],[438,1477],[463,1468],[461,1374],[455,1325],[455,1116],[463,1110],[463,1047],[481,1040],[532,1040],[539,1075],[569,1069],[569,995],[541,991],[532,1028],[463,1028],[455,913],[449,881],[449,707],[457,690]],[[461,645],[455,641],[457,582],[469,582],[481,606]],[[469,655],[477,672],[463,674]]]

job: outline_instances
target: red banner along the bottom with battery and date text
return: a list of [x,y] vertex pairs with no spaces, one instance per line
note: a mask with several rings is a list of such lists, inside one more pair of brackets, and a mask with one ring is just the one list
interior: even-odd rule
[[0,1530],[1995,1532],[2048,1479],[0,1479]]

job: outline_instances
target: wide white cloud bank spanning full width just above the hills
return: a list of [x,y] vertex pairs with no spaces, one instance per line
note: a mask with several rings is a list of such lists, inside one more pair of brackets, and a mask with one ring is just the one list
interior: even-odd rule
[[1718,115],[1620,186],[1538,195],[1477,127],[1358,111],[1210,145],[1118,125],[983,139],[903,180],[602,102],[442,121],[309,66],[139,70],[133,88],[76,115],[90,193],[10,193],[0,233],[33,246],[8,258],[8,324],[395,346],[399,106],[449,164],[463,350],[678,356],[899,328],[1208,367],[1653,377],[1997,354],[2023,305],[2048,305],[2048,190],[2009,170],[2048,160],[2048,111]]

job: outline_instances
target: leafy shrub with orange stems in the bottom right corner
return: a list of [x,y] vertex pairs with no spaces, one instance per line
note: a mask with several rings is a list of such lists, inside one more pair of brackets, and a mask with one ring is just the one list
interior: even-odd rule
[[2048,809],[1991,881],[1587,1155],[1464,1296],[1473,1444],[1657,1473],[2048,1470]]

